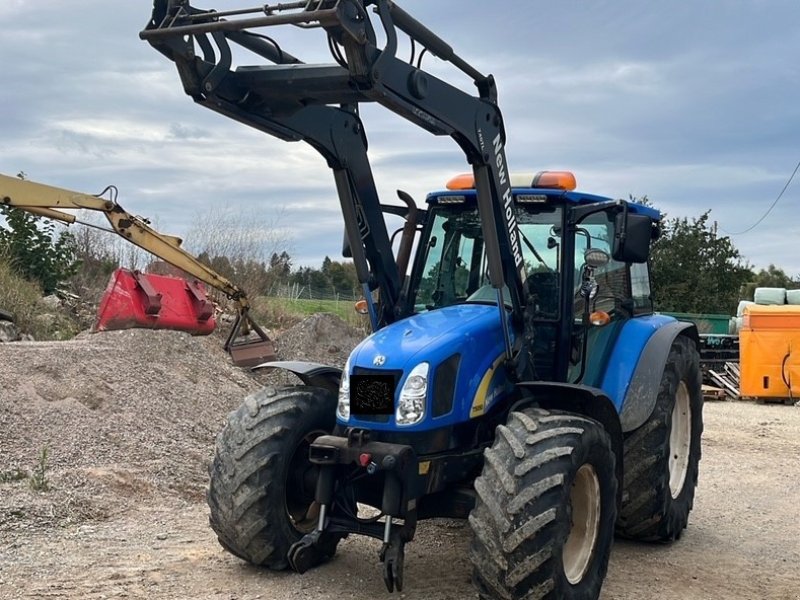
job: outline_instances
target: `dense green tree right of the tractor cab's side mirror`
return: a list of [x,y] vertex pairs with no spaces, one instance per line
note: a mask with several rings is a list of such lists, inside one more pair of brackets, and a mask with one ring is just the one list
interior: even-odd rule
[[734,314],[740,289],[753,273],[709,215],[662,222],[651,253],[657,310]]

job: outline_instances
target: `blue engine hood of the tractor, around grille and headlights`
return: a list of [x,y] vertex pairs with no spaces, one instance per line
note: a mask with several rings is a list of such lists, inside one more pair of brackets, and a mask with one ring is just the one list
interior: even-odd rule
[[[359,419],[351,415],[342,425],[374,430],[426,431],[462,423],[470,419],[473,401],[487,373],[485,405],[480,414],[490,408],[504,393],[507,379],[502,366],[496,365],[503,356],[503,332],[496,305],[458,304],[431,312],[412,315],[380,329],[363,340],[350,355],[350,372],[399,374],[395,390],[395,407],[408,374],[420,362],[430,365],[426,417],[416,425],[398,425],[394,415],[385,422],[374,418]],[[452,410],[432,416],[431,397],[436,389],[437,367],[454,354],[461,359],[452,390]],[[377,362],[376,357],[383,357]],[[481,398],[484,399],[483,397]]]

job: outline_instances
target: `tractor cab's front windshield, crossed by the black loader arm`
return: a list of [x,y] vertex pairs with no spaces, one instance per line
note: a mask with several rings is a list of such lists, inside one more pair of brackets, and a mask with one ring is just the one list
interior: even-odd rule
[[[536,212],[517,208],[522,255],[531,281],[557,282],[561,249],[561,208],[537,206]],[[483,233],[475,208],[437,206],[431,209],[425,262],[416,274],[417,312],[461,302],[497,303],[489,283]],[[547,304],[557,312],[557,284]],[[508,298],[508,293],[504,295]],[[555,318],[555,317],[554,317]]]

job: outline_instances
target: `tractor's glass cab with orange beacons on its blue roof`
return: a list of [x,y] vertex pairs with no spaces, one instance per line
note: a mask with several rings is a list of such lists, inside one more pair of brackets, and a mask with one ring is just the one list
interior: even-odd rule
[[[622,325],[652,313],[646,261],[656,231],[651,223],[659,214],[576,192],[569,172],[512,175],[511,182],[526,272],[525,319],[533,323],[535,378],[599,386]],[[497,306],[472,177],[453,178],[446,190],[429,194],[427,204],[409,281],[413,312]],[[641,231],[633,231],[636,227]],[[510,310],[508,293],[501,296]]]

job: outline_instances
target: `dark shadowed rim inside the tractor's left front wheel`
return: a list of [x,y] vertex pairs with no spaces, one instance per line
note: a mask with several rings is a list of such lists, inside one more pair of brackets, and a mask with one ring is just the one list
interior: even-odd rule
[[286,514],[292,527],[303,534],[316,529],[320,508],[314,501],[318,468],[308,460],[308,449],[315,439],[325,434],[312,431],[304,436],[292,453],[286,473]]

